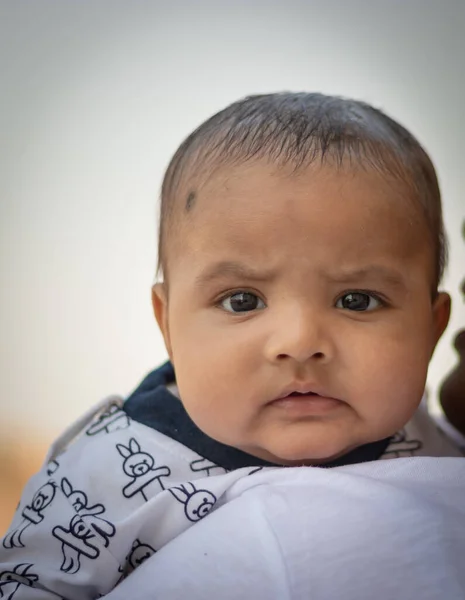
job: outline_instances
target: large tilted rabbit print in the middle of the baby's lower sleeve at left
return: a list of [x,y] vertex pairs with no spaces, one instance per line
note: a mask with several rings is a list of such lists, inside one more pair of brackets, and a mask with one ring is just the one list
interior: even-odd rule
[[116,529],[112,523],[97,516],[105,512],[103,504],[89,506],[87,494],[74,490],[66,477],[61,480],[61,489],[77,514],[72,517],[68,529],[57,525],[52,534],[61,542],[63,562],[60,570],[74,574],[81,568],[81,556],[97,558],[99,546],[103,544],[107,548]]

